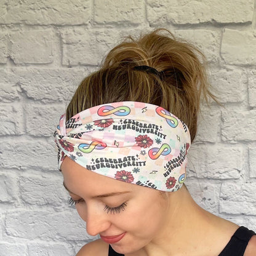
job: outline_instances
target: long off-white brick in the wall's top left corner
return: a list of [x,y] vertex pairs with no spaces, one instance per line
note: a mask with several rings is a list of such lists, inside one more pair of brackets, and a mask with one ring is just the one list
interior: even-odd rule
[[[2,1],[1,1],[2,2]],[[2,7],[4,7],[3,10]],[[1,23],[25,23],[29,25],[80,25],[89,22],[89,0],[58,1],[16,0],[4,2],[0,6]]]

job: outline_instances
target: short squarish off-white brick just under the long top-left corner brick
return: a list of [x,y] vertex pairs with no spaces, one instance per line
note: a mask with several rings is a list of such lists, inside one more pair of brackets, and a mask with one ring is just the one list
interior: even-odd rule
[[51,63],[54,59],[50,30],[17,31],[10,34],[10,43],[15,63]]

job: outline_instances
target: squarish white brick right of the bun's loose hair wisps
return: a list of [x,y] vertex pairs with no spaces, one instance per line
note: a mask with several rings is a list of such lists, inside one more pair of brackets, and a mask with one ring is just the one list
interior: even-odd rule
[[247,99],[247,77],[242,70],[217,70],[210,83],[221,103],[244,102]]

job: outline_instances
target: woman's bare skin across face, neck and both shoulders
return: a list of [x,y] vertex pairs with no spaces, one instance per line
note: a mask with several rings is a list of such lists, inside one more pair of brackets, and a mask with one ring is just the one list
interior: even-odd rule
[[[161,194],[95,174],[69,158],[62,164],[62,173],[71,197],[81,199],[76,209],[87,222],[87,233],[111,236],[126,232],[121,241],[112,245],[125,256],[217,256],[239,228],[199,207],[185,186]],[[95,199],[99,194],[124,191],[128,193]],[[103,210],[105,204],[116,207],[123,201],[127,201],[127,207],[119,214],[113,216]],[[108,244],[98,239],[77,254],[88,255],[107,256]],[[250,239],[244,255],[256,255],[256,236]]]

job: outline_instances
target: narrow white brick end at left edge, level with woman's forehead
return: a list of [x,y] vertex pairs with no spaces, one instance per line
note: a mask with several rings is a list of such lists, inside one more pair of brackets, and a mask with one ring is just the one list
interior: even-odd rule
[[0,194],[0,202],[10,203],[15,201],[17,197],[17,180],[15,177],[0,174]]

